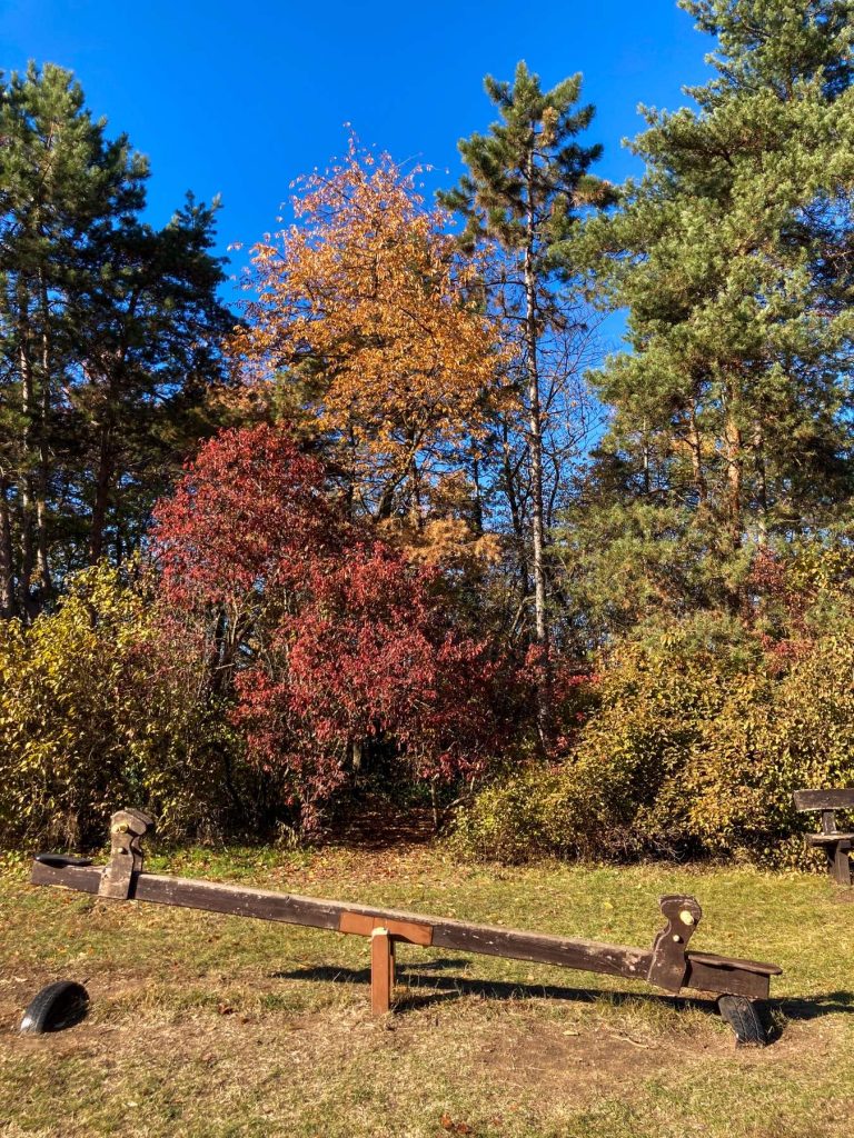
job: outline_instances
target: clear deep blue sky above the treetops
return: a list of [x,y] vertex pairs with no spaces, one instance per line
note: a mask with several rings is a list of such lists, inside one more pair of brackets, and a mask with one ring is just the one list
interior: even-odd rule
[[222,251],[276,229],[293,179],[344,151],[346,122],[436,167],[433,185],[455,181],[457,140],[493,117],[484,74],[510,79],[518,59],[547,85],[583,72],[599,173],[621,181],[639,170],[621,148],[638,104],[684,105],[711,48],[675,0],[0,0],[0,67],[74,71],[109,132],[149,156],[154,223],[187,189],[222,196]]

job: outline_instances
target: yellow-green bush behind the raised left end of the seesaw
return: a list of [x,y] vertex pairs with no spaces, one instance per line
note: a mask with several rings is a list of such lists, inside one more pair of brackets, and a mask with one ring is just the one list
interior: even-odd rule
[[166,836],[219,828],[236,749],[182,630],[114,569],[56,612],[0,621],[0,844],[100,843],[121,806]]

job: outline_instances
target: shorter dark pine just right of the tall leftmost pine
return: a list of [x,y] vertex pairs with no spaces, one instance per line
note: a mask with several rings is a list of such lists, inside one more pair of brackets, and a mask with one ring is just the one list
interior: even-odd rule
[[69,409],[83,444],[80,560],[136,549],[187,451],[216,427],[207,395],[227,374],[220,345],[236,323],[216,295],[216,208],[188,195],[162,230],[125,221],[97,254],[109,271],[68,298],[83,361]]

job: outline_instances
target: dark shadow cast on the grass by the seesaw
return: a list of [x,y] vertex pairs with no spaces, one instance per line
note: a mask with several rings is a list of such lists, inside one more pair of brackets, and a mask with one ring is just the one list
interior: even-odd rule
[[[502,980],[469,980],[465,976],[443,975],[450,971],[461,971],[468,964],[463,959],[437,959],[416,966],[399,965],[397,978],[409,987],[405,996],[395,1003],[399,1011],[428,1007],[433,1004],[459,999],[462,996],[481,996],[485,999],[563,999],[582,1004],[593,1004],[603,999],[618,1007],[627,1001],[642,999],[654,1006],[696,1008],[706,1015],[718,1016],[717,997],[709,999],[659,996],[655,992],[622,992],[590,988],[569,988],[557,984],[509,983]],[[370,968],[335,968],[314,966],[295,968],[291,972],[274,972],[276,980],[317,980],[347,984],[369,984]],[[822,992],[810,999],[769,999],[758,1001],[761,1019],[773,1042],[782,1031],[781,1020],[808,1021],[822,1015],[854,1013],[854,992]]]

